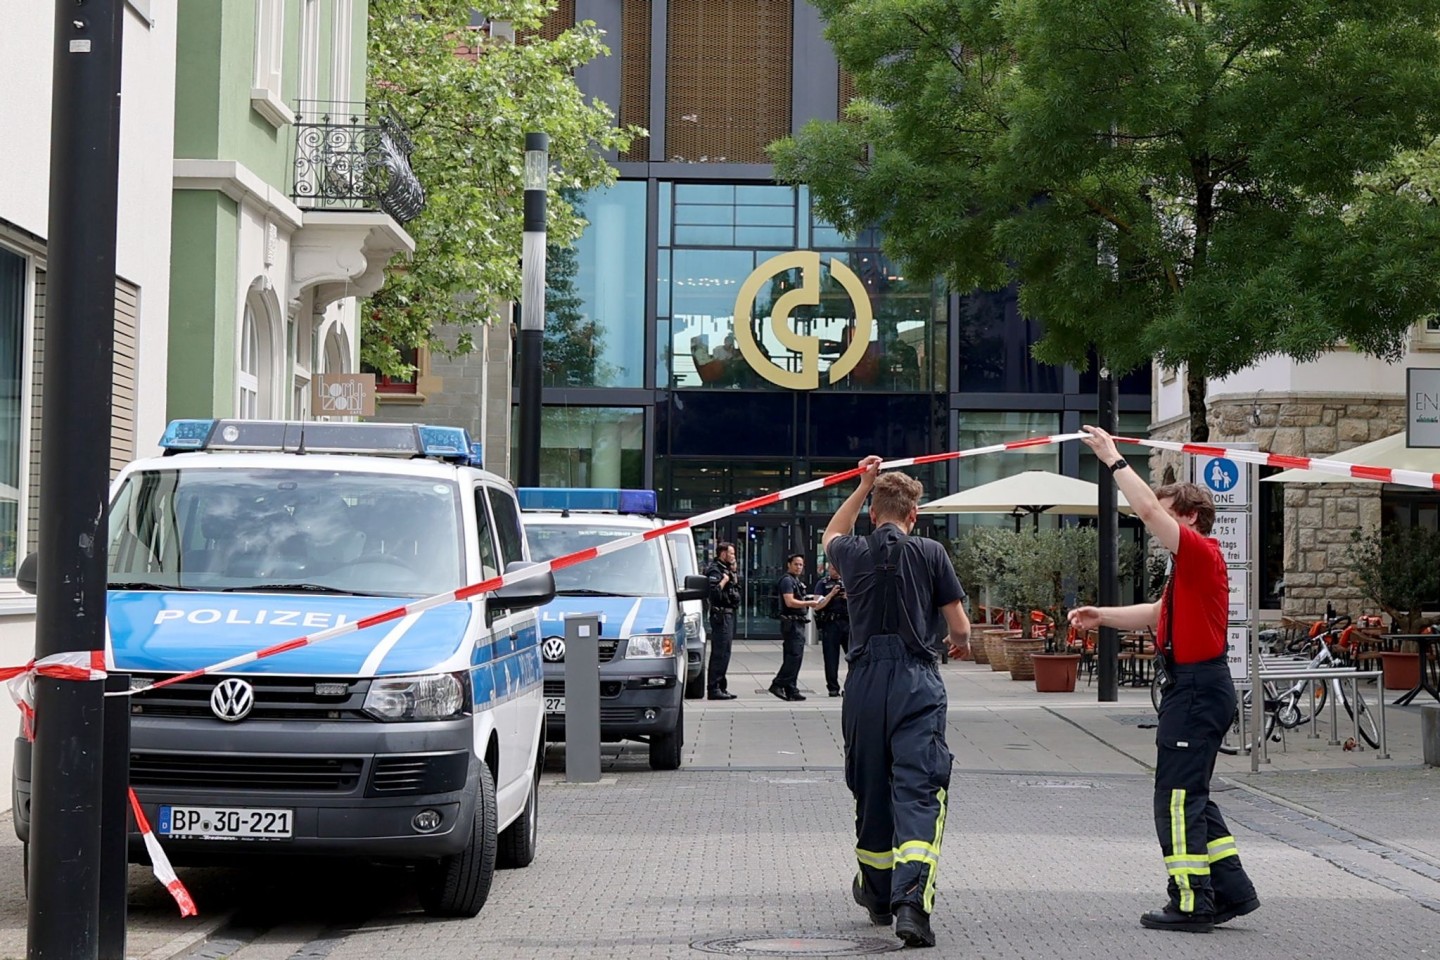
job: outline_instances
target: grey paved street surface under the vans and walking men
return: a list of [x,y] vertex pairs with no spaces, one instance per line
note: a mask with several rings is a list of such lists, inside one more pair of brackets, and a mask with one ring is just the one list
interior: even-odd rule
[[[202,917],[181,921],[137,866],[127,953],[645,960],[701,959],[691,944],[720,937],[897,946],[848,897],[841,701],[824,695],[818,649],[806,651],[801,685],[821,695],[805,702],[766,692],[778,664],[775,643],[737,645],[730,689],[740,698],[687,702],[680,771],[651,771],[644,746],[608,744],[600,783],[572,784],[553,747],[540,853],[528,869],[497,874],[475,920],[422,917],[402,871],[282,862],[183,869]],[[1247,757],[1223,757],[1217,799],[1264,905],[1211,936],[1166,934],[1138,924],[1164,885],[1148,691],[1122,688],[1117,702],[1097,704],[1093,687],[1040,695],[975,664],[940,669],[955,773],[933,956],[1440,953],[1440,770],[1420,764],[1417,710],[1390,711],[1390,760],[1295,731],[1260,773]],[[0,825],[0,957],[24,954],[19,878],[19,843]],[[816,941],[792,946],[806,943]]]

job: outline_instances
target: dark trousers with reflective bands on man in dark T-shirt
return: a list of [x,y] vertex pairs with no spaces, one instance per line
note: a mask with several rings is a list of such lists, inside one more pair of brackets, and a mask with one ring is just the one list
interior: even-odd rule
[[871,638],[850,664],[841,731],[855,797],[860,895],[887,908],[935,907],[950,756],[945,684],[899,636]]

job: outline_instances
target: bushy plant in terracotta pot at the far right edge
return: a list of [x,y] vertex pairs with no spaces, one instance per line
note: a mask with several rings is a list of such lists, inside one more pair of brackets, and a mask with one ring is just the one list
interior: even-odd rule
[[[1390,524],[1351,533],[1345,560],[1365,599],[1384,610],[1401,633],[1428,626],[1426,603],[1440,599],[1440,533]],[[1420,682],[1420,655],[1382,651],[1385,689],[1413,689]]]

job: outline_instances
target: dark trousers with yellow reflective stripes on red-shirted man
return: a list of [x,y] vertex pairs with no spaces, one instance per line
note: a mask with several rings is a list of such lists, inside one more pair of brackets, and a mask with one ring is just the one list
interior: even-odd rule
[[1171,668],[1155,731],[1155,832],[1165,856],[1171,904],[1212,914],[1256,895],[1236,838],[1210,799],[1220,741],[1236,712],[1224,658]]

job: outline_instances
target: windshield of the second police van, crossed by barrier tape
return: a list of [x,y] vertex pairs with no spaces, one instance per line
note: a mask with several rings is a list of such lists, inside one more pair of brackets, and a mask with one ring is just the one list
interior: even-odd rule
[[[533,560],[554,560],[564,554],[613,543],[641,533],[634,527],[606,524],[547,524],[526,515],[526,540]],[[570,596],[664,597],[665,563],[658,540],[635,544],[595,560],[554,571],[556,593]]]

